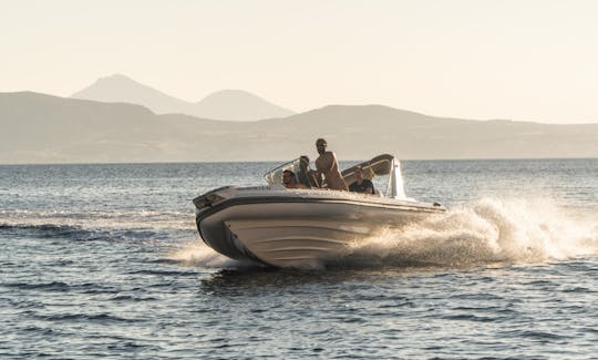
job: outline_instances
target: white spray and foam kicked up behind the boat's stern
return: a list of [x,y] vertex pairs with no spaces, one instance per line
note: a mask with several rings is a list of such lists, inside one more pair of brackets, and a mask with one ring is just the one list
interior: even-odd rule
[[598,223],[567,213],[550,199],[483,198],[446,216],[384,229],[355,243],[351,253],[360,263],[379,265],[566,259],[598,253]]

